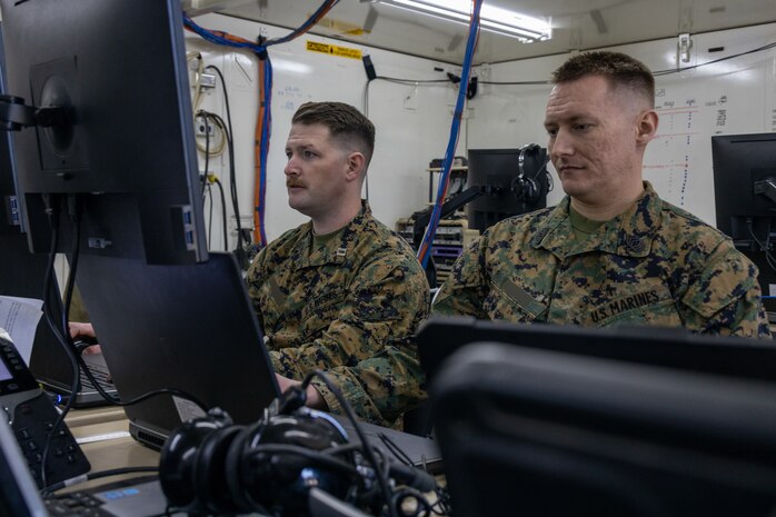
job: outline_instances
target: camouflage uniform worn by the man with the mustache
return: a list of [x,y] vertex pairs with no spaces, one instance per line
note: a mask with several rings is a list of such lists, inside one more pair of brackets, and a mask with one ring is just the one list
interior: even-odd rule
[[[428,317],[426,275],[409,245],[369,206],[311,252],[312,223],[256,257],[247,281],[276,371],[301,380],[325,370],[356,414],[395,427],[425,397],[415,331]],[[341,412],[319,379],[331,412]]]

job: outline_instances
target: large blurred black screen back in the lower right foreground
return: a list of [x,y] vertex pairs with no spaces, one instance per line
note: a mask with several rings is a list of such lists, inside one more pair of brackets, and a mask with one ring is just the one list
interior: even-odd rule
[[457,517],[776,509],[772,382],[478,342],[450,358],[436,388]]

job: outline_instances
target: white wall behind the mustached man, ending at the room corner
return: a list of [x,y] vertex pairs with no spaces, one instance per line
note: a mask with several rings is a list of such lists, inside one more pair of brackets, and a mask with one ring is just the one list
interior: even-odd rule
[[[259,33],[275,38],[289,32],[286,29],[220,14],[198,17],[195,21],[207,29],[223,30],[251,40],[255,40]],[[225,74],[235,131],[240,212],[242,220],[251,221],[258,60],[252,52],[213,46],[188,31],[186,38],[189,51],[200,51],[206,64],[219,67]],[[364,93],[367,78],[361,60],[308,51],[306,50],[308,40],[357,48],[334,39],[302,36],[269,49],[275,72],[272,138],[267,169],[266,229],[270,240],[307,219],[288,207],[282,173],[286,162],[286,137],[294,111],[308,100],[344,101],[365,110]],[[435,71],[434,68],[450,69],[449,64],[380,49],[360,47],[358,50],[371,56],[378,76],[414,80],[441,79],[446,77],[445,73]],[[449,82],[416,87],[377,80],[369,87],[368,116],[377,128],[376,150],[368,176],[369,197],[376,217],[389,227],[394,227],[397,218],[408,217],[426,206],[428,173],[425,169],[432,158],[444,156],[456,95],[457,88]],[[217,112],[226,119],[220,86],[206,93],[200,108]],[[466,128],[465,125],[462,126],[459,148],[465,149]],[[200,168],[203,163],[203,156],[200,153]],[[216,159],[215,163],[211,160],[209,168],[221,177],[226,187],[228,185],[226,153],[222,158]],[[233,248],[236,237],[231,221],[231,207],[228,213],[229,246]],[[211,249],[222,249],[220,201],[216,203],[213,215]],[[207,219],[206,208],[206,221]]]

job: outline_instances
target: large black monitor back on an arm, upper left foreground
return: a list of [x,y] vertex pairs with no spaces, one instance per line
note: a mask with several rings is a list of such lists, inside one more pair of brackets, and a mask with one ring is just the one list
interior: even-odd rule
[[61,208],[60,251],[70,251],[69,207],[80,202],[82,252],[206,260],[180,2],[0,8],[8,93],[29,107],[16,107],[20,123],[34,125],[12,137],[31,249],[51,248],[48,202]]

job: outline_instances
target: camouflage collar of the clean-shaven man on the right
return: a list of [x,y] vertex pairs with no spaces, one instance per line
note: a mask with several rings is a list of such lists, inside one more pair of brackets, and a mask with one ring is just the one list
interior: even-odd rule
[[566,196],[550,216],[539,223],[530,240],[531,246],[547,249],[559,258],[588,251],[646,257],[660,220],[663,201],[648,181],[644,182],[644,196],[630,208],[601,225],[581,243],[568,238],[573,229],[568,215],[570,198]]

